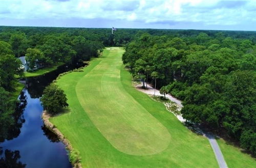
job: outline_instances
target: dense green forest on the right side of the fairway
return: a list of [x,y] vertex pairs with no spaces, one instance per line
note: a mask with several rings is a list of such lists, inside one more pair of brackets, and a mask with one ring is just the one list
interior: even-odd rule
[[256,32],[144,33],[125,46],[122,59],[135,79],[156,79],[158,88],[183,100],[186,120],[225,130],[256,155],[255,37]]

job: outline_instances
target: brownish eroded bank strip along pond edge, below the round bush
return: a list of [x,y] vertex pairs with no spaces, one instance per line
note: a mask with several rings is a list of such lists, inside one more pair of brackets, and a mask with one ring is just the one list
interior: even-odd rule
[[[46,127],[51,130],[52,132],[54,132],[58,138],[60,139],[60,141],[66,146],[66,149],[69,150],[70,152],[74,150],[74,148],[71,146],[71,143],[69,142],[69,140],[67,138],[65,138],[65,136],[56,128],[55,125],[53,125],[49,119],[50,119],[51,115],[47,113],[47,111],[43,111],[42,112],[42,121],[45,123]],[[75,163],[73,164],[73,167],[78,167],[81,168],[82,165],[81,163]]]

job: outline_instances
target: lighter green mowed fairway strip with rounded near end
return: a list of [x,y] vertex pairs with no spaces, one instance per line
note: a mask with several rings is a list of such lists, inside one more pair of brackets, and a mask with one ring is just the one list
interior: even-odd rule
[[123,89],[120,80],[122,52],[114,51],[110,50],[104,60],[78,81],[79,102],[117,150],[130,155],[159,153],[168,147],[170,134]]

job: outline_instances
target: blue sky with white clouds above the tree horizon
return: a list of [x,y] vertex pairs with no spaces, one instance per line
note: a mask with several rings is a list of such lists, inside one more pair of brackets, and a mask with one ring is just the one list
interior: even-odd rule
[[0,25],[256,31],[256,0],[0,0]]

